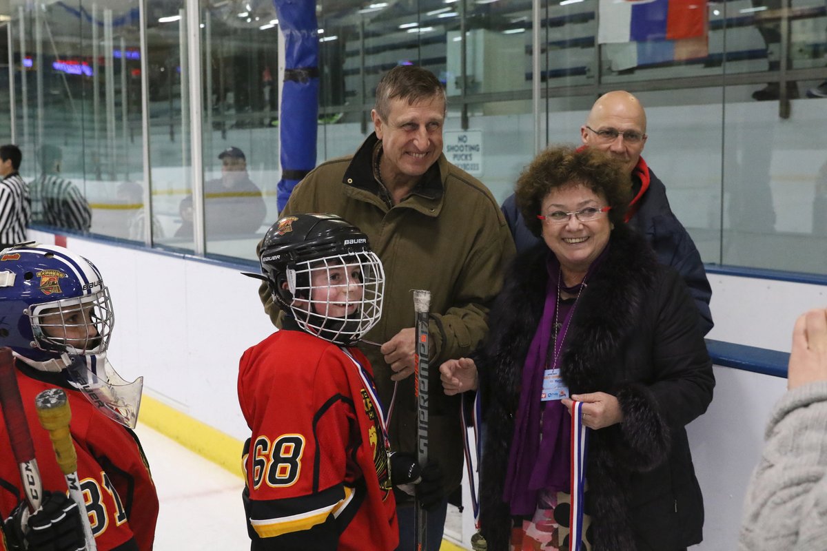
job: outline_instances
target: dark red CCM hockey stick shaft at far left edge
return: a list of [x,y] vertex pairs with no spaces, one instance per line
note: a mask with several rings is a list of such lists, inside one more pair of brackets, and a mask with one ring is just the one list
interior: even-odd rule
[[43,484],[41,472],[37,469],[35,444],[31,441],[31,432],[26,422],[26,411],[17,386],[17,373],[14,367],[12,349],[4,346],[0,349],[0,406],[3,419],[6,420],[8,438],[12,442],[14,460],[20,468],[20,479],[26,501],[31,512],[41,507]]

